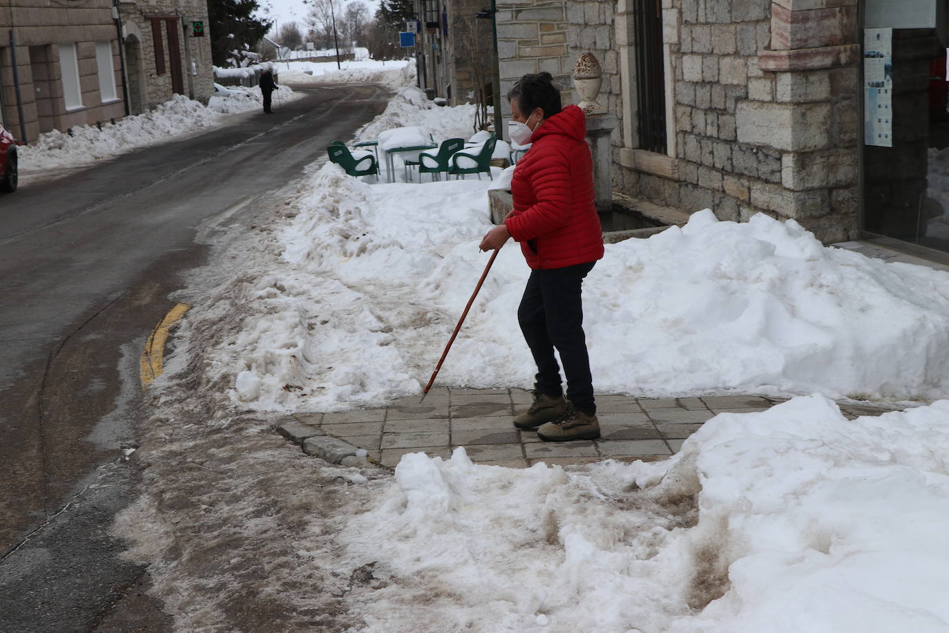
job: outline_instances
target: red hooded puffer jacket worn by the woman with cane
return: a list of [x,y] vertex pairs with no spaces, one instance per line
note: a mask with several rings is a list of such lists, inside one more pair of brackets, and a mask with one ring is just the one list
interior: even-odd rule
[[568,105],[541,123],[511,181],[514,211],[505,220],[531,269],[562,269],[603,257],[593,205],[593,158],[586,117]]

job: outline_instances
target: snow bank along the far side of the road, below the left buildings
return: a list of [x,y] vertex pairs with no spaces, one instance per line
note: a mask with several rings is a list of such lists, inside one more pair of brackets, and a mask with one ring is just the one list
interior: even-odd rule
[[[213,127],[222,122],[222,112],[244,112],[260,107],[259,88],[230,88],[239,95],[212,97],[206,107],[182,95],[155,109],[121,121],[72,128],[72,134],[51,130],[29,145],[18,148],[24,173],[81,167],[102,158],[112,158],[135,149],[172,140],[182,134]],[[280,99],[290,99],[292,90],[283,87]],[[274,99],[277,96],[274,95]]]

